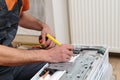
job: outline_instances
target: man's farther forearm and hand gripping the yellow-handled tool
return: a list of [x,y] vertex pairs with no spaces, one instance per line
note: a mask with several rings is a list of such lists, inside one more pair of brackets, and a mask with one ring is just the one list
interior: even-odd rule
[[26,12],[22,12],[20,16],[20,21],[19,25],[21,27],[27,28],[27,29],[32,29],[32,30],[37,30],[41,31],[42,35],[42,44],[45,44],[45,48],[52,48],[55,46],[55,43],[53,43],[51,40],[46,40],[46,34],[50,34],[51,36],[54,37],[54,34],[50,30],[49,26],[45,24],[44,22],[34,18],[30,14]]

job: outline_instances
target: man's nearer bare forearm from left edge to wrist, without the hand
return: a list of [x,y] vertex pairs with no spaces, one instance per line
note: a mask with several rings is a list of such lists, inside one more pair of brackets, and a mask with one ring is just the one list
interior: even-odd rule
[[0,46],[0,65],[2,66],[16,66],[37,63],[46,61],[46,57],[47,54],[44,50],[20,50],[6,46]]

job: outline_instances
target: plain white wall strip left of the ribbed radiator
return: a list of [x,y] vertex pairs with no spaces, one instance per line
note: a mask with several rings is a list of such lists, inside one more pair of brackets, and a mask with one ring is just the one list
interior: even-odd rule
[[70,43],[67,3],[67,0],[46,0],[46,22],[53,26],[56,39],[61,43]]

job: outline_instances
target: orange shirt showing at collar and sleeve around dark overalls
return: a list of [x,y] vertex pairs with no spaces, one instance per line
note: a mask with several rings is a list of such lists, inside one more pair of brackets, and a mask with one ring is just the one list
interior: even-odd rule
[[[8,10],[12,10],[14,5],[16,4],[16,2],[18,0],[5,0],[6,1],[6,5],[8,7]],[[22,0],[22,8],[21,11],[26,11],[29,9],[29,0]]]

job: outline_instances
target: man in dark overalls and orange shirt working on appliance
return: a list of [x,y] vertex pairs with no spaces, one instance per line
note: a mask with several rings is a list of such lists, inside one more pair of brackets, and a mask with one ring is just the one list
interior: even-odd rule
[[[49,27],[27,14],[28,0],[0,0],[0,80],[29,80],[44,62],[69,61],[73,46],[55,46],[46,34],[53,36]],[[18,25],[41,31],[42,40],[48,50],[20,50],[11,47]],[[55,46],[55,47],[54,47]]]

